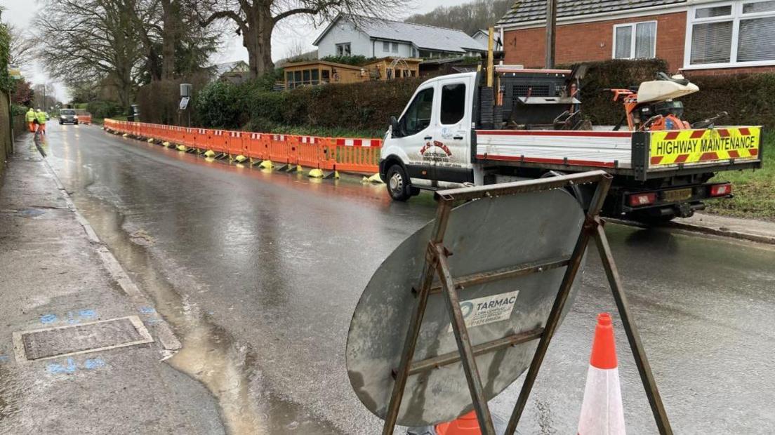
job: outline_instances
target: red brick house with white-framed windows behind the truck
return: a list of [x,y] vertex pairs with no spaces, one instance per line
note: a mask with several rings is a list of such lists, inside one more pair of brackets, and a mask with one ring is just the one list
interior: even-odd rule
[[[546,0],[498,21],[505,63],[543,67]],[[670,71],[775,71],[775,0],[558,0],[556,63],[660,57]]]

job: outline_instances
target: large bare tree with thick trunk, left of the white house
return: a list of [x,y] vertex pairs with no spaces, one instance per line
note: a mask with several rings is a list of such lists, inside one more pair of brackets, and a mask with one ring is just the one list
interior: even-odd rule
[[250,63],[250,74],[257,77],[274,68],[272,30],[283,19],[306,15],[319,21],[333,19],[339,13],[390,16],[408,0],[188,0],[197,2],[202,26],[219,19],[236,24],[243,38]]

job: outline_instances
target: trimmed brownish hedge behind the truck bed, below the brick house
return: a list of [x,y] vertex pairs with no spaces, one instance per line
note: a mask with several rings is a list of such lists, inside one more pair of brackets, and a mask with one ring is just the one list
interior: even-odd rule
[[[589,63],[582,83],[581,109],[595,125],[614,125],[624,115],[622,103],[612,101],[605,88],[637,87],[646,80],[654,80],[656,73],[667,71],[661,59],[606,60]],[[570,67],[570,66],[565,66]],[[680,98],[684,102],[684,117],[689,122],[715,116],[727,111],[729,116],[720,122],[727,125],[775,126],[775,74],[686,74],[700,87],[700,91]]]

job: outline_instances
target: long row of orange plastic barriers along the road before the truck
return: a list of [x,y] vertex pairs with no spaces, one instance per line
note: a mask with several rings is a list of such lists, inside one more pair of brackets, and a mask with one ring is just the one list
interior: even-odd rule
[[381,139],[210,130],[112,119],[105,119],[105,128],[232,156],[354,173],[376,173],[382,148]]

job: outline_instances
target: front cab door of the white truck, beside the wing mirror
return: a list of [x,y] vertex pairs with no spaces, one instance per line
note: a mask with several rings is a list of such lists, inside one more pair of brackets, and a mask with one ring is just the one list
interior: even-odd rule
[[406,152],[407,175],[415,184],[429,184],[432,178],[431,159],[423,155],[424,149],[432,142],[436,119],[433,101],[436,97],[436,83],[429,83],[418,89],[415,98],[409,103],[401,119],[398,120],[400,132],[392,135],[391,141]]

